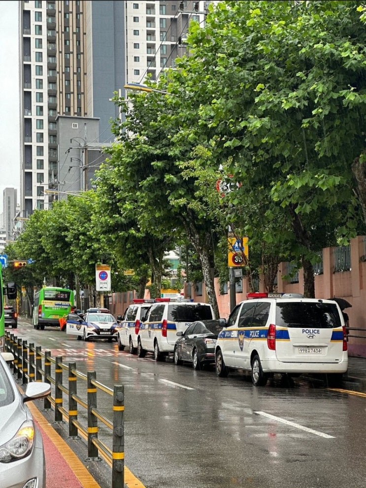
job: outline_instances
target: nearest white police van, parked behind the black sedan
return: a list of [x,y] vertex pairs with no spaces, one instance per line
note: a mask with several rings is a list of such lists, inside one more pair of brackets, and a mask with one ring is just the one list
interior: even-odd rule
[[[333,300],[248,293],[224,327],[215,348],[216,375],[250,371],[255,386],[275,373],[325,373],[337,383],[348,368],[342,312]],[[333,375],[333,376],[331,376]]]

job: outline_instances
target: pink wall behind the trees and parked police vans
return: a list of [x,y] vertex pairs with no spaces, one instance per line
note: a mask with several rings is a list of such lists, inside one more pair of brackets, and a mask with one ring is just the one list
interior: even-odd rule
[[[348,342],[350,356],[366,358],[366,260],[364,250],[365,236],[358,236],[351,239],[351,263],[350,271],[334,272],[334,248],[323,249],[322,275],[315,276],[316,298],[330,298],[338,296],[345,298],[352,304],[346,312],[349,315],[350,327],[362,330],[351,330]],[[303,275],[299,270],[299,283],[289,283],[282,279],[286,274],[286,263],[280,263],[277,274],[277,291],[283,293],[303,293]],[[260,280],[259,291],[263,292],[263,281]],[[215,278],[215,290],[217,295],[220,317],[227,318],[230,314],[230,293],[220,294],[219,280]],[[249,292],[247,280],[243,280],[243,292],[236,293],[236,303],[246,299]],[[197,295],[194,287],[186,286],[185,296],[193,298],[194,301],[207,302],[207,296],[202,286],[202,295]],[[114,315],[123,314],[125,309],[132,302],[135,293],[112,293],[110,303],[111,312]],[[352,337],[352,336],[361,337]]]

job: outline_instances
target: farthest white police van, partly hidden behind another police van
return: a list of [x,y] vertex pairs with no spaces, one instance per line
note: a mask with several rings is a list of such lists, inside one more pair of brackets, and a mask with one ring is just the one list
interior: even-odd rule
[[155,300],[135,298],[133,303],[126,309],[118,330],[118,349],[124,351],[129,348],[131,354],[137,351],[137,336],[141,324],[141,318]]

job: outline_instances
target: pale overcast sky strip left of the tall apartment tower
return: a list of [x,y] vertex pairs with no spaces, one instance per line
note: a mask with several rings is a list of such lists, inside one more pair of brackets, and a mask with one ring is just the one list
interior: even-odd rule
[[0,213],[5,188],[20,192],[18,1],[1,3],[0,15]]

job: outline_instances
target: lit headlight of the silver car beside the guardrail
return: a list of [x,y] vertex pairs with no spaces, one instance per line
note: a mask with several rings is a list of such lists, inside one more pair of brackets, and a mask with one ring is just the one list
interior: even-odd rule
[[0,462],[16,461],[30,454],[34,443],[34,423],[27,420],[10,441],[0,446]]

